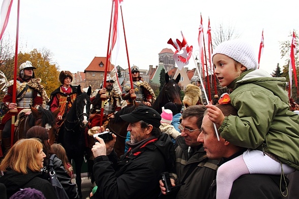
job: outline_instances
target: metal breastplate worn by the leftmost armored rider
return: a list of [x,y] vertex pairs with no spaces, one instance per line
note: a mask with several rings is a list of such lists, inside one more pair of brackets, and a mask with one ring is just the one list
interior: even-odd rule
[[[17,82],[17,96],[25,87],[26,82]],[[33,93],[34,90],[28,87],[28,89],[17,98],[17,108],[30,108],[30,105],[33,105]]]

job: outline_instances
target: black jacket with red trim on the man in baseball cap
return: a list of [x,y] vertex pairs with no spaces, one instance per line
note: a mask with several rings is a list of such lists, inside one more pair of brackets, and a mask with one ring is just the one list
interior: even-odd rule
[[97,192],[92,198],[158,198],[160,175],[174,172],[174,148],[170,137],[162,133],[158,140],[147,142],[139,151],[130,150],[116,165],[116,153],[94,159]]

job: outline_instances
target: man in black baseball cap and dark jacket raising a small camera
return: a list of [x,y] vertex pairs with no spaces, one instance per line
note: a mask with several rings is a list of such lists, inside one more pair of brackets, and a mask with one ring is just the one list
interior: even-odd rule
[[129,122],[130,148],[117,163],[113,150],[116,136],[106,143],[96,137],[92,152],[98,189],[92,198],[157,198],[161,174],[174,172],[174,148],[159,128],[161,116],[152,108],[139,106],[121,118]]

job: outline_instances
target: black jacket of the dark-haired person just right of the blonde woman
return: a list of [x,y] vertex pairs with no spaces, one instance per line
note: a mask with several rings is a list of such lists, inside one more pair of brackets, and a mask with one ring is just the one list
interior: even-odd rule
[[[44,165],[45,165],[45,167],[47,169],[42,174],[42,178],[44,178],[46,180],[49,179],[49,175],[48,175],[48,170],[49,170],[48,169],[48,162],[49,162],[48,159],[44,161]],[[70,199],[73,199],[73,198],[77,199],[77,198],[79,198],[76,184],[72,183],[71,177],[67,173],[67,170],[65,169],[62,160],[59,159],[56,156],[53,159],[53,169],[56,172],[57,179],[59,180],[59,182],[61,183],[61,185],[64,187],[64,189],[67,192],[69,198]]]

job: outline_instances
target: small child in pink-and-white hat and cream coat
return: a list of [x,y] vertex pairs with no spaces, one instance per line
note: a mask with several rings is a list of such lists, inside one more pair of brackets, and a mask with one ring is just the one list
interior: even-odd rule
[[174,144],[176,142],[176,137],[180,136],[181,133],[177,131],[173,125],[171,125],[172,117],[172,111],[169,109],[164,109],[164,107],[162,107],[160,129],[162,132],[165,132],[171,137],[171,140]]

